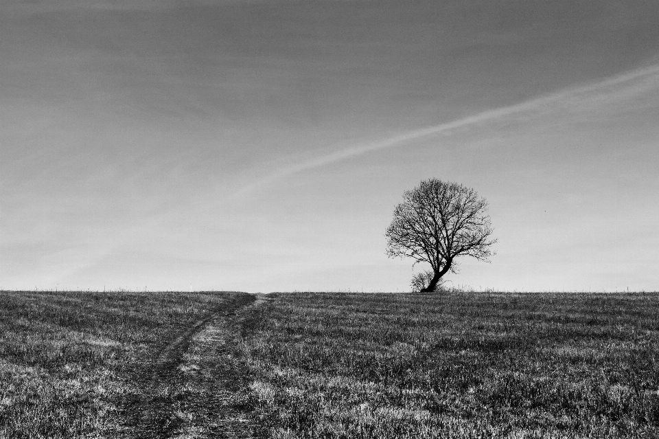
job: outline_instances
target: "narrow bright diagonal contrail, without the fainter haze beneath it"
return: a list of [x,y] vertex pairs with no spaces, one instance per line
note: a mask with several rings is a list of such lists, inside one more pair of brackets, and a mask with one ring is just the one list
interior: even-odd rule
[[540,96],[539,98],[534,98],[519,104],[513,104],[510,106],[503,106],[498,109],[492,109],[477,113],[472,116],[463,117],[459,120],[454,120],[452,122],[446,122],[444,124],[439,124],[435,126],[429,126],[428,128],[421,128],[415,131],[408,131],[393,137],[386,139],[380,139],[376,142],[371,142],[368,144],[360,144],[356,146],[351,146],[343,150],[336,151],[335,153],[329,153],[321,157],[316,157],[307,161],[303,161],[298,164],[293,164],[291,166],[286,166],[285,168],[280,168],[261,179],[254,181],[253,183],[244,186],[237,192],[234,192],[229,196],[225,201],[238,199],[240,196],[247,194],[267,183],[272,183],[279,179],[289,177],[290,175],[296,174],[304,170],[310,170],[314,168],[321,168],[322,166],[327,166],[329,164],[334,164],[338,161],[344,161],[352,157],[357,157],[360,155],[365,155],[373,151],[378,151],[386,148],[395,148],[407,142],[411,142],[415,139],[420,139],[421,137],[426,137],[428,135],[437,135],[439,133],[444,133],[446,131],[454,130],[456,128],[463,128],[464,126],[476,125],[483,122],[488,122],[491,120],[500,119],[501,117],[513,115],[516,113],[522,113],[524,111],[533,111],[541,109],[542,107],[553,104],[555,102],[560,102],[563,100],[568,100],[575,97],[576,95],[583,95],[593,91],[601,91],[607,89],[608,87],[613,87],[625,82],[636,80],[639,78],[648,78],[656,77],[659,79],[659,65],[652,65],[650,67],[645,67],[642,69],[637,69],[634,71],[629,71],[625,74],[614,76],[596,82],[590,85],[583,85],[580,87],[573,87],[570,89],[564,89],[562,91],[557,91],[556,93],[551,93],[549,95]]

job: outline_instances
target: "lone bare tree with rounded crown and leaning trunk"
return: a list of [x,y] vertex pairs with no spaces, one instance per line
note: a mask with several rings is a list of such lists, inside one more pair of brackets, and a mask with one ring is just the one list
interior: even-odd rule
[[455,258],[487,262],[494,254],[487,201],[472,188],[428,179],[405,191],[403,199],[386,229],[386,253],[430,264],[433,275],[421,291],[435,291],[441,277],[455,271]]

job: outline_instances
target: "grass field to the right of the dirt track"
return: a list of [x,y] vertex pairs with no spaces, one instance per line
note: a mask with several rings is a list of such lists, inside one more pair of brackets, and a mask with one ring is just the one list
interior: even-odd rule
[[659,437],[656,293],[282,293],[260,322],[273,438]]

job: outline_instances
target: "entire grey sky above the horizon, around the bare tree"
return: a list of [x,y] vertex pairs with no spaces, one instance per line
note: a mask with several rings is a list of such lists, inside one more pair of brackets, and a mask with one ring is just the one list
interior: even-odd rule
[[3,0],[0,289],[409,291],[405,190],[487,199],[453,286],[659,289],[656,0]]

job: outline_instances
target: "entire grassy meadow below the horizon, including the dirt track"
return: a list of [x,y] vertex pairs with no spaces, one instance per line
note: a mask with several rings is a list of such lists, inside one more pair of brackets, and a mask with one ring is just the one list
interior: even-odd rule
[[658,293],[0,293],[0,438],[659,438]]

